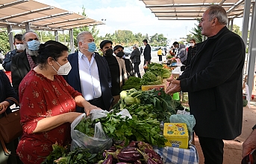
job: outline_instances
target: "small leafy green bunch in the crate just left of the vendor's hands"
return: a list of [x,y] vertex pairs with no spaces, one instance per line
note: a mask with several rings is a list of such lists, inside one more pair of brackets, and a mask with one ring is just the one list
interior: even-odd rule
[[162,84],[161,76],[156,76],[150,71],[146,71],[141,79],[141,85],[160,85]]

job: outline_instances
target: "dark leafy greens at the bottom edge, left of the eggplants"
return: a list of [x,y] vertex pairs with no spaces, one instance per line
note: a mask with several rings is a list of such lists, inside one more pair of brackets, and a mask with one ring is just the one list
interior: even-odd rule
[[102,153],[90,154],[89,151],[82,148],[75,148],[74,151],[69,151],[69,148],[58,145],[57,142],[52,145],[53,151],[46,157],[42,164],[94,164],[102,159]]

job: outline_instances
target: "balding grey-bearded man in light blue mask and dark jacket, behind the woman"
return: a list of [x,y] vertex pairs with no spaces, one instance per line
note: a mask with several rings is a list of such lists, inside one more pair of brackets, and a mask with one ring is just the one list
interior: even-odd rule
[[19,83],[26,76],[26,74],[36,66],[37,51],[40,45],[37,33],[27,31],[22,35],[22,41],[25,45],[25,50],[12,57],[10,65],[11,79],[13,88],[16,94],[19,95]]

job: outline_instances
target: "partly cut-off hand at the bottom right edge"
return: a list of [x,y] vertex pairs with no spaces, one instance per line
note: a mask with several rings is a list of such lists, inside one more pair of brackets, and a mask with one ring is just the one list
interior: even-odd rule
[[256,129],[252,131],[252,134],[243,142],[242,157],[246,157],[250,151],[256,148]]

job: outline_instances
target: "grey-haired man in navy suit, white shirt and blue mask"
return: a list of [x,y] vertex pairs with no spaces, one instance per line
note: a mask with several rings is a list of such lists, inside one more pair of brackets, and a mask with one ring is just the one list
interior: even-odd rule
[[[78,33],[77,41],[79,50],[68,56],[72,69],[64,78],[90,104],[109,111],[113,96],[107,61],[94,52],[96,45],[90,32]],[[77,107],[76,111],[84,113],[81,107]]]

